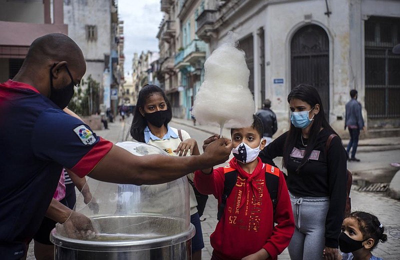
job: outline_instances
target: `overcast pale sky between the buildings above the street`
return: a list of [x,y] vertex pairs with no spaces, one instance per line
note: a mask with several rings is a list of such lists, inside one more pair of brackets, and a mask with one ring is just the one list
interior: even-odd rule
[[126,75],[132,72],[134,52],[158,51],[155,36],[162,19],[160,0],[118,0],[118,14],[123,20]]

